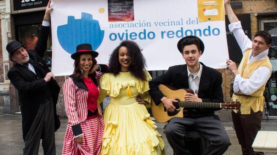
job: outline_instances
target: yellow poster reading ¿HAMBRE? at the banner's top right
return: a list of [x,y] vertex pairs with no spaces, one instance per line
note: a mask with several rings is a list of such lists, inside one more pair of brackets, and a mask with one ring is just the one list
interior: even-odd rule
[[200,22],[225,20],[224,0],[197,0]]

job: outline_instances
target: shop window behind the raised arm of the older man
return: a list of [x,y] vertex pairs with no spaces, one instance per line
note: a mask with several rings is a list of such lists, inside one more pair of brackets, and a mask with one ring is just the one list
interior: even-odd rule
[[[26,45],[26,50],[35,49],[38,40],[38,35],[40,31],[40,24],[38,25],[26,25],[19,26],[19,42]],[[51,28],[49,32],[49,37],[47,41],[47,49],[42,58],[45,60],[47,66],[51,70],[52,66],[52,36]]]

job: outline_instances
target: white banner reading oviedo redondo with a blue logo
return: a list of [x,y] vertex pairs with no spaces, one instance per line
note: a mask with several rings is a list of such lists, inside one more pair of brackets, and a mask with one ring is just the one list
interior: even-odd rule
[[[52,0],[55,76],[73,73],[74,60],[70,56],[76,52],[76,45],[92,44],[93,50],[99,53],[98,63],[108,63],[109,55],[122,40],[139,44],[147,70],[167,70],[169,66],[185,64],[177,42],[187,35],[198,36],[204,42],[201,62],[212,68],[226,68],[229,55],[225,21],[200,22],[196,0],[126,0],[123,1],[128,6],[125,8],[113,2]],[[223,0],[219,2],[223,5]],[[117,9],[121,12],[116,13]],[[222,13],[224,9],[218,12]]]

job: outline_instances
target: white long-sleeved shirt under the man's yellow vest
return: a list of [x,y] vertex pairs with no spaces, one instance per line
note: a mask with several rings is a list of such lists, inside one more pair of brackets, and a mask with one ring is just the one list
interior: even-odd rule
[[[229,30],[234,34],[235,39],[237,40],[242,52],[252,48],[252,41],[244,34],[240,21],[229,24]],[[257,60],[266,59],[268,55],[268,51],[269,50],[266,49],[262,53],[253,57],[252,49],[251,49],[247,64]],[[259,88],[261,88],[264,85],[264,83],[267,82],[270,75],[271,75],[270,69],[265,66],[257,68],[252,73],[249,79],[244,79],[241,77],[240,74],[238,74],[235,76],[235,80],[234,80],[234,87],[233,87],[234,91],[238,92],[240,90],[243,94],[250,95],[255,91],[257,91]]]

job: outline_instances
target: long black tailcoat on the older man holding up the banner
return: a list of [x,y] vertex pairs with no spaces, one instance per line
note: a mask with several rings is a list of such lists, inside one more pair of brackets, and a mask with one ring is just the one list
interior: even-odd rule
[[57,115],[56,104],[58,101],[60,87],[55,80],[47,83],[43,79],[50,72],[47,64],[42,57],[47,48],[47,39],[49,34],[49,26],[41,26],[39,38],[34,50],[28,50],[29,57],[33,59],[33,67],[36,73],[42,78],[39,79],[31,70],[20,64],[15,64],[8,71],[8,78],[19,93],[19,104],[22,115],[23,138],[25,139],[32,122],[34,121],[38,108],[41,103],[46,101],[45,86],[49,86],[52,101],[54,104],[55,131],[60,126],[59,117]]

